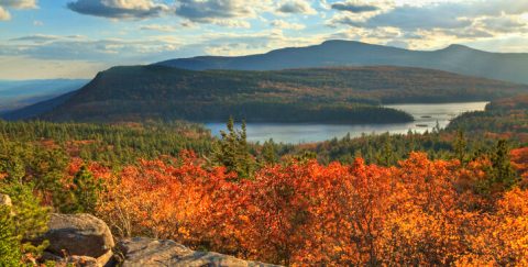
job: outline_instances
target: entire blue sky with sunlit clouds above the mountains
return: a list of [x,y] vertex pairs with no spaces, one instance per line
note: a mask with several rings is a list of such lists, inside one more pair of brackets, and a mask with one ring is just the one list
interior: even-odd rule
[[0,79],[327,40],[528,53],[528,0],[0,0]]

